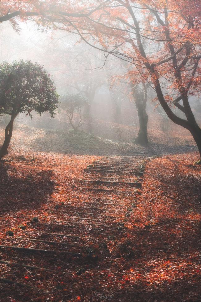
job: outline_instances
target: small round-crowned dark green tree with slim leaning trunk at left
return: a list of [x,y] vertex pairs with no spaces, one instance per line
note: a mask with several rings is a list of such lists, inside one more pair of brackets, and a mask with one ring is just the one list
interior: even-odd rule
[[58,94],[50,74],[43,66],[31,61],[3,62],[0,65],[0,115],[11,116],[5,129],[5,140],[0,149],[0,159],[8,153],[7,149],[13,132],[13,122],[19,113],[32,118],[32,111],[39,115],[49,111],[53,118],[58,107]]

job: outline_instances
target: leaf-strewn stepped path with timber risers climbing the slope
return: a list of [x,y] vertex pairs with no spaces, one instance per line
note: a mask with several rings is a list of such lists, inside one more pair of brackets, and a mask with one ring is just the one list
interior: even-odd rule
[[[36,293],[40,287],[45,288],[36,295],[44,294],[48,298],[53,294],[48,286],[50,272],[59,284],[56,289],[60,290],[69,286],[61,282],[62,273],[67,271],[67,277],[72,278],[73,274],[79,276],[98,266],[107,257],[121,257],[118,253],[110,255],[110,246],[117,245],[119,239],[125,236],[130,215],[135,213],[142,190],[146,157],[113,156],[89,165],[83,171],[84,179],[80,180],[79,190],[91,191],[90,198],[75,205],[55,205],[49,211],[49,222],[43,218],[38,220],[39,212],[32,222],[21,225],[22,230],[18,234],[9,237],[10,244],[8,237],[6,242],[2,240],[0,248],[4,257],[0,263],[8,266],[9,271],[1,276],[0,281],[11,284],[13,289],[15,282],[18,282],[17,285],[22,288],[33,287]],[[122,249],[127,257],[133,253],[128,248]],[[42,270],[43,280],[40,280],[37,275]],[[29,277],[30,273],[34,274],[35,280]],[[19,282],[24,274],[27,275],[26,283]],[[53,291],[55,296],[55,288]],[[69,296],[69,292],[66,295]],[[59,299],[67,299],[66,295]]]

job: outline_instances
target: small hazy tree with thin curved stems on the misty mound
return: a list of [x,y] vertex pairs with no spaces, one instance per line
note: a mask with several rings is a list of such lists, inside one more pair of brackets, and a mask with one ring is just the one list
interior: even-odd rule
[[[89,121],[89,114],[83,113],[83,108],[88,106],[89,100],[83,94],[71,93],[61,98],[62,109],[66,111],[66,115],[69,118],[69,122],[75,131],[82,125],[86,125],[87,120]],[[79,116],[79,122],[75,125],[74,115]]]

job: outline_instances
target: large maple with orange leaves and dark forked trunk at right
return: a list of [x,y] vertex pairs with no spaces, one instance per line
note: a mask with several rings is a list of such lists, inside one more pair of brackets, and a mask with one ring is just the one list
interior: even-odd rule
[[[11,13],[23,16],[15,5]],[[201,83],[199,0],[49,0],[35,12],[27,9],[24,16],[28,14],[44,26],[79,35],[106,58],[113,55],[132,64],[155,90],[169,119],[190,131],[201,156],[201,129],[190,107],[190,96],[199,93]]]

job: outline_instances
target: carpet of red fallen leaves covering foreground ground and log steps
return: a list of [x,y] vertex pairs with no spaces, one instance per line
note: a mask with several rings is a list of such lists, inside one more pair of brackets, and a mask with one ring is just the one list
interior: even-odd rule
[[199,301],[201,169],[193,161],[7,156],[0,301]]

